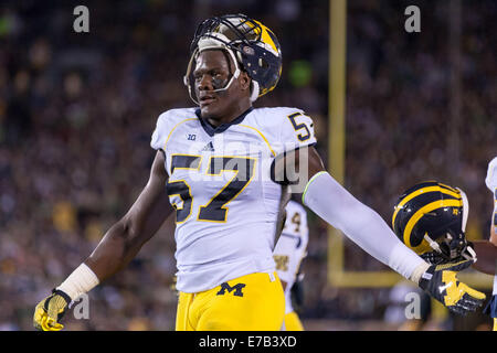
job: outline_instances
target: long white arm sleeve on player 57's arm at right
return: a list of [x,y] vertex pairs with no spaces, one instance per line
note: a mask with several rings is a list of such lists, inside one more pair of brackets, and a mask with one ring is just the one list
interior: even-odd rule
[[406,247],[373,210],[359,202],[327,172],[307,183],[303,202],[319,217],[343,232],[376,259],[408,279],[426,263]]

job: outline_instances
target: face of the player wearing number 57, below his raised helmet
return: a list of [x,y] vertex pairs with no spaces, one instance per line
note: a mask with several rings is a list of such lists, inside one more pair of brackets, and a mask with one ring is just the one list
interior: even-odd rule
[[234,79],[228,89],[215,92],[226,87],[234,69],[234,63],[221,50],[200,53],[193,78],[202,118],[225,122],[243,113],[240,111],[243,99],[240,79]]

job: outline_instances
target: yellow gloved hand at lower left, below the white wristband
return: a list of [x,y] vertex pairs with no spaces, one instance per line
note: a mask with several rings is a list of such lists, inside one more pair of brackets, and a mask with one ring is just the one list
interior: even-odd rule
[[53,290],[52,295],[40,301],[34,309],[33,325],[40,331],[60,331],[64,328],[59,321],[71,303],[71,298],[62,290]]

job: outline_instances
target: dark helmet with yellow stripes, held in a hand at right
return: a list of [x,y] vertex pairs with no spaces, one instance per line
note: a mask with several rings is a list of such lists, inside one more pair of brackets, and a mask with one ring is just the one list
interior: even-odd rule
[[392,228],[417,255],[433,265],[476,260],[466,240],[469,203],[466,194],[436,181],[419,183],[396,202]]

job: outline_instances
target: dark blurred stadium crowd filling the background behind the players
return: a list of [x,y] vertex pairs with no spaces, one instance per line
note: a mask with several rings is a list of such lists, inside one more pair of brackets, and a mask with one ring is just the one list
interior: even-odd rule
[[[455,183],[469,197],[469,237],[486,238],[491,199],[484,178],[497,136],[497,4],[464,3],[463,120],[453,146],[450,6],[417,3],[422,32],[406,33],[408,2],[349,1],[346,186],[390,223],[405,188],[426,179]],[[244,0],[236,10],[229,1],[87,7],[89,33],[75,33],[71,2],[0,6],[0,330],[32,330],[35,303],[89,255],[145,185],[158,115],[191,104],[182,75],[199,20],[244,12],[277,34],[283,77],[255,105],[305,109],[327,160],[327,1]],[[454,150],[458,163],[448,159]],[[327,288],[326,224],[314,214],[309,221],[303,270],[313,290],[305,289],[304,322],[381,318],[389,289]],[[173,222],[160,233],[89,293],[89,320],[67,314],[70,330],[173,329]],[[385,269],[350,243],[346,267]]]

